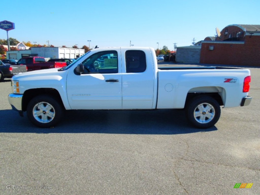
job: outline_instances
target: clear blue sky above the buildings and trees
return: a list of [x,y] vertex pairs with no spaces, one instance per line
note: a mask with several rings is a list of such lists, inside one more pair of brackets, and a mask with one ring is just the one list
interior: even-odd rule
[[[90,48],[189,46],[230,24],[260,24],[259,0],[9,0],[0,21],[15,23],[19,41]],[[0,38],[6,31],[0,29]]]

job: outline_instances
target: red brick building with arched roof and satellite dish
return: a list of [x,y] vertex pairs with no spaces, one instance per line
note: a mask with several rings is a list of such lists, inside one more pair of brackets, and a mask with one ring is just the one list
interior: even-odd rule
[[201,42],[200,63],[260,67],[260,25],[233,24]]

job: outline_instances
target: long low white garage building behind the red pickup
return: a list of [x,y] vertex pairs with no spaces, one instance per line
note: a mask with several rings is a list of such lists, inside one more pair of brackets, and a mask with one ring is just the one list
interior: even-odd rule
[[6,51],[6,59],[19,60],[22,57],[76,58],[84,55],[84,49],[64,47],[31,47],[30,50]]

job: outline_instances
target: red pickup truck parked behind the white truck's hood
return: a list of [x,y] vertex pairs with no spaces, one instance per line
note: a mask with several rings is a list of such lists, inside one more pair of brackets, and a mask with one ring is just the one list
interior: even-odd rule
[[28,71],[67,66],[66,62],[46,62],[44,57],[23,57],[18,60],[17,65],[26,65]]

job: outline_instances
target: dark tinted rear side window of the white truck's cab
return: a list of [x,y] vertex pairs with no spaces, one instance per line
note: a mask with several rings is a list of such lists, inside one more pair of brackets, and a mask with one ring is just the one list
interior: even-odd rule
[[144,51],[128,50],[126,51],[126,72],[142,73],[146,70],[146,57]]

